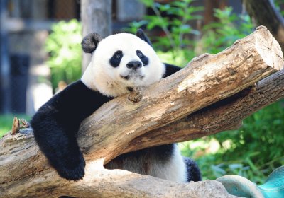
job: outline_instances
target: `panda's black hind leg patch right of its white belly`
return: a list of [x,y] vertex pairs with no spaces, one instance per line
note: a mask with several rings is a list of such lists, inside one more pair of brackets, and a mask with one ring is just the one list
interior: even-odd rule
[[185,166],[187,169],[187,182],[197,182],[201,181],[201,173],[200,168],[198,168],[198,165],[195,161],[193,161],[191,158],[183,157],[183,161],[185,162]]

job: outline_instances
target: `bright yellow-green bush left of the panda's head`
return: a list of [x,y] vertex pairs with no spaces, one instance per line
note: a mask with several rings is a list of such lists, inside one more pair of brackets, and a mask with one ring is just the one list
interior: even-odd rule
[[69,22],[60,21],[52,27],[52,33],[45,42],[45,50],[50,54],[48,66],[53,90],[60,81],[71,83],[81,76],[81,31],[81,23],[75,19]]

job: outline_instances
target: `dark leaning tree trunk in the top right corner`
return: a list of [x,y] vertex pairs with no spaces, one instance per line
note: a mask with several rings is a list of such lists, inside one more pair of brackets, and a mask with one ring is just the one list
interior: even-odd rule
[[264,25],[278,40],[282,50],[284,49],[284,18],[276,10],[271,0],[243,0],[246,11],[251,16],[253,23]]

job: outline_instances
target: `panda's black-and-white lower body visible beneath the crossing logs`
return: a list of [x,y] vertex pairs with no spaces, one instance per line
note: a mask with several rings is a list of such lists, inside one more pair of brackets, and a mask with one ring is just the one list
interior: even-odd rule
[[108,169],[124,169],[174,182],[200,181],[200,170],[195,161],[180,154],[176,144],[166,144],[125,153],[114,158]]

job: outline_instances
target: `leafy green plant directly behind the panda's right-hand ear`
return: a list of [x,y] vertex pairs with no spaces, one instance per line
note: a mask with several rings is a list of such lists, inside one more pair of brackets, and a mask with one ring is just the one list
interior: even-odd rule
[[[168,4],[159,4],[153,0],[141,0],[148,8],[152,8],[155,16],[145,16],[143,21],[134,21],[127,30],[136,33],[138,28],[146,25],[147,30],[160,28],[164,36],[153,37],[153,46],[158,54],[167,57],[166,61],[172,64],[185,65],[188,59],[195,57],[195,52],[188,50],[195,47],[195,41],[189,40],[192,35],[200,32],[189,25],[189,21],[201,19],[198,14],[202,6],[192,6],[193,0],[171,1]],[[162,17],[163,13],[166,14]],[[170,17],[174,16],[174,17]],[[168,51],[162,55],[163,52]]]

